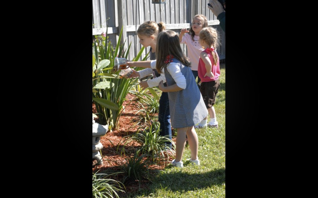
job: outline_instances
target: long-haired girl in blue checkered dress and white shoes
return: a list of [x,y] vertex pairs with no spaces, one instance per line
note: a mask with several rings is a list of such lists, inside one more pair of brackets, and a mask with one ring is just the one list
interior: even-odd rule
[[183,167],[182,156],[186,135],[191,151],[192,163],[200,165],[198,159],[198,138],[194,125],[208,115],[202,95],[197,87],[191,63],[183,54],[178,34],[172,30],[159,33],[156,45],[156,69],[164,76],[168,86],[161,81],[158,85],[162,92],[168,92],[170,119],[173,128],[177,129],[176,159],[172,165]]

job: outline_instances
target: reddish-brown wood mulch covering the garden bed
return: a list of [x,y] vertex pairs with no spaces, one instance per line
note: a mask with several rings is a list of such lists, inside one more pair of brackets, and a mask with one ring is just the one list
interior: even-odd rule
[[[120,155],[120,150],[117,152],[117,146],[118,144],[121,144],[121,140],[123,137],[130,135],[132,133],[135,133],[139,126],[135,126],[135,123],[132,122],[134,118],[137,117],[135,115],[135,110],[139,110],[138,104],[135,101],[132,101],[129,105],[127,105],[131,100],[135,98],[135,95],[128,93],[126,96],[126,100],[123,102],[123,106],[125,106],[125,111],[121,114],[121,117],[119,118],[118,126],[115,129],[115,131],[107,131],[107,133],[100,138],[101,144],[103,144],[103,149],[101,150],[102,156],[103,156],[103,165],[95,165],[97,163],[96,160],[93,159],[93,172],[96,172],[98,170],[102,171],[104,169],[118,169],[117,164],[113,162],[113,160],[124,160],[124,157]],[[126,106],[127,105],[127,106]],[[144,104],[143,104],[144,105]],[[145,105],[144,105],[145,106]],[[97,113],[95,104],[93,103],[93,113]],[[156,114],[156,116],[158,113]],[[94,118],[95,122],[99,122],[98,118]],[[173,129],[172,129],[173,131]],[[174,134],[172,134],[174,135]],[[176,139],[173,138],[173,140],[176,142]],[[137,142],[129,143],[125,146],[125,150],[127,151],[135,151],[136,148],[140,147],[140,144]],[[122,146],[120,146],[122,148]],[[157,165],[152,165],[151,168],[155,169],[164,169],[165,166],[167,166],[169,163],[163,162],[165,161],[171,161],[173,158],[169,156],[169,158],[164,158],[160,162],[157,162]],[[95,165],[95,166],[94,166]],[[149,166],[150,168],[150,166]],[[114,178],[113,178],[114,179]],[[117,181],[121,181],[121,178],[117,178]],[[128,184],[125,184],[126,187],[126,193],[134,192],[138,190],[139,188],[145,188],[147,187],[148,182],[130,182]]]

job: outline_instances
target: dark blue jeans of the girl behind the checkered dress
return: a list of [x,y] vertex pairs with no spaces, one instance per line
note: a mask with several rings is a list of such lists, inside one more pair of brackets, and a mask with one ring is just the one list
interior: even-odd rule
[[[169,135],[169,139],[172,139],[171,135],[171,124],[170,124],[170,112],[169,112],[169,99],[168,92],[162,92],[159,99],[159,113],[158,121],[160,123],[160,136]],[[171,143],[167,143],[171,148]]]

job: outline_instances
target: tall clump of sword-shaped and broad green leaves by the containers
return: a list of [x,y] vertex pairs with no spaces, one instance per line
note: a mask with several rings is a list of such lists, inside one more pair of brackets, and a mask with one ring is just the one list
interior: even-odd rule
[[[95,36],[97,40],[99,37]],[[121,79],[118,76],[119,71],[112,71],[115,57],[124,56],[127,58],[131,46],[130,43],[128,49],[124,50],[124,45],[120,44],[122,29],[115,49],[111,48],[111,41],[107,45],[107,32],[106,37],[102,36],[102,38],[103,42],[94,42],[93,46],[93,59],[95,59],[95,63],[93,62],[93,100],[96,105],[100,124],[108,124],[109,130],[115,130],[121,114],[120,112],[123,109],[122,103],[126,99],[131,87],[138,84],[138,79]],[[144,47],[141,48],[132,61],[138,61],[143,51]],[[146,60],[147,55],[143,60]],[[135,69],[139,70],[140,68]]]

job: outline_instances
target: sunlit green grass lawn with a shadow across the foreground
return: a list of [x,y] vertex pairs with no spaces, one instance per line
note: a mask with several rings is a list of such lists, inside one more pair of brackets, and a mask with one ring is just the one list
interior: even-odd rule
[[149,189],[129,197],[225,197],[225,63],[220,64],[220,69],[221,85],[214,105],[219,128],[196,129],[201,165],[186,162],[190,158],[187,144],[182,169],[168,165],[149,182]]

